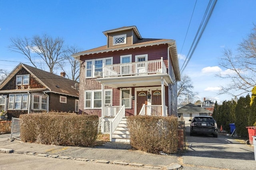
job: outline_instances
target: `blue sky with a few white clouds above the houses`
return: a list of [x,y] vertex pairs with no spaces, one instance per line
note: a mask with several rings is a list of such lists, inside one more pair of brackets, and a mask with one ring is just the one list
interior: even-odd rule
[[[23,55],[8,49],[11,37],[47,33],[82,50],[106,45],[103,31],[136,25],[142,38],[174,39],[180,67],[196,35],[208,0],[0,0],[0,67],[12,71]],[[193,8],[194,14],[188,29]],[[225,83],[215,77],[224,48],[235,50],[256,24],[256,0],[218,0],[183,74],[192,79],[198,99],[222,102]],[[184,42],[186,31],[188,34]],[[184,47],[182,49],[182,44]],[[182,49],[182,51],[181,51]],[[29,63],[26,63],[29,64]],[[59,72],[57,73],[59,74]]]

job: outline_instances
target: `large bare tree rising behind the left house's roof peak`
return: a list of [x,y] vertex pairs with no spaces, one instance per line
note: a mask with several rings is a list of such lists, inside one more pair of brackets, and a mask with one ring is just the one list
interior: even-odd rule
[[27,37],[11,38],[11,51],[25,55],[36,68],[46,64],[49,72],[53,73],[55,66],[64,60],[63,53],[64,40],[62,38],[53,39],[51,36],[44,34],[42,37],[35,35],[32,39]]

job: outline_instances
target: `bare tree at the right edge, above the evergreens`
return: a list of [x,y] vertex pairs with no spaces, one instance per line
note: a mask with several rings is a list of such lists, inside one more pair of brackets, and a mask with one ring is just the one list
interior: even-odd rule
[[250,93],[256,86],[256,25],[247,39],[243,39],[238,45],[237,52],[237,55],[233,55],[230,49],[224,49],[224,57],[221,58],[219,65],[227,71],[217,76],[231,80],[231,83],[222,86],[218,94],[236,97]]

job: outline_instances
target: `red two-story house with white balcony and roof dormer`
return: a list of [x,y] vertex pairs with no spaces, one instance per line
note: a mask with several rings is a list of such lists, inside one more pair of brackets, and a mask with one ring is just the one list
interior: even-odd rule
[[81,63],[80,113],[102,117],[110,134],[125,116],[177,116],[176,42],[142,38],[136,26],[103,33],[106,45],[72,55]]

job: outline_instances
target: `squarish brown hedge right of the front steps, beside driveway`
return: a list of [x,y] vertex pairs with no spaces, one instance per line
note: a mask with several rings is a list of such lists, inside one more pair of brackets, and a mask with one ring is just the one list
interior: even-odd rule
[[130,116],[130,144],[150,153],[178,151],[178,121],[176,117]]

